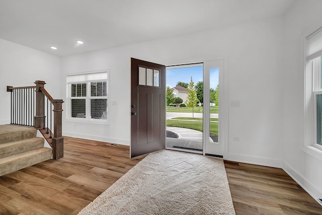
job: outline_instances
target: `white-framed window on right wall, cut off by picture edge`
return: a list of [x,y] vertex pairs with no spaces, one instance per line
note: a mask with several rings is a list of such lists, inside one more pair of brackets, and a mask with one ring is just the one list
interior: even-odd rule
[[[312,98],[312,146],[322,150],[322,28],[306,37],[306,92]],[[309,83],[310,82],[310,83]],[[310,90],[309,90],[310,89]],[[308,91],[308,92],[307,92]],[[309,101],[309,100],[307,100]],[[309,104],[309,102],[308,102]]]

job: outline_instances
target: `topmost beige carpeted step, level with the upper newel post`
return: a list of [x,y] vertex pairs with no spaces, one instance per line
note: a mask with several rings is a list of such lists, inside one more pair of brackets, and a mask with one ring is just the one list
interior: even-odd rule
[[0,144],[36,137],[37,129],[16,125],[0,125]]

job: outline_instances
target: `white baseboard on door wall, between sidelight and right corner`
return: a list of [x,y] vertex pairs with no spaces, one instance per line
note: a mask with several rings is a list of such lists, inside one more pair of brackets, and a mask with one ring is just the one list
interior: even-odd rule
[[247,164],[255,164],[267,167],[276,167],[282,168],[282,160],[270,159],[270,158],[260,158],[260,157],[251,157],[245,155],[237,154],[228,154],[227,157],[224,157],[224,160],[235,161]]

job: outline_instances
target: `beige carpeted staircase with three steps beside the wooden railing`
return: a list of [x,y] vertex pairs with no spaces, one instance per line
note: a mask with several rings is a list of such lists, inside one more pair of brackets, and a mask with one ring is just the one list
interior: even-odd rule
[[51,159],[52,149],[36,135],[35,128],[0,125],[0,176]]

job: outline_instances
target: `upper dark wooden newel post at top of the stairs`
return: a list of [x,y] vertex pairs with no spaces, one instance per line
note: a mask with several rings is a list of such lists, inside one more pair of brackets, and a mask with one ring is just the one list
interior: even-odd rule
[[44,128],[44,94],[40,88],[45,86],[44,81],[36,81],[36,116],[35,116],[35,128]]

